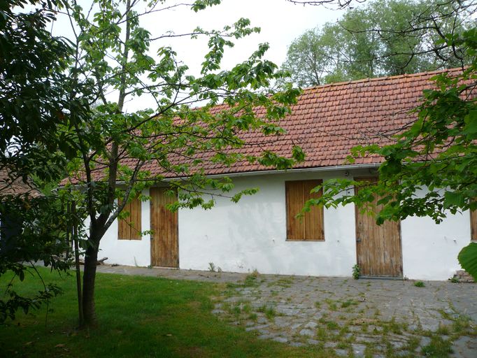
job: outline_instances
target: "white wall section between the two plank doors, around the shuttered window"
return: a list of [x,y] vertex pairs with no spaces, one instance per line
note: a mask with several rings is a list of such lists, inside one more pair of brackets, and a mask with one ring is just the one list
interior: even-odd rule
[[287,173],[235,178],[236,189],[259,187],[239,203],[218,198],[211,210],[179,213],[180,268],[349,276],[356,263],[353,206],[325,209],[325,241],[286,241],[285,180],[343,175]]

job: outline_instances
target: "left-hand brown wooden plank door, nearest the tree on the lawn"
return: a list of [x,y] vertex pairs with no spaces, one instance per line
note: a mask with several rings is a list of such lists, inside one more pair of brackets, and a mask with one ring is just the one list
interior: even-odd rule
[[166,195],[168,188],[150,189],[151,265],[179,267],[178,215],[166,209],[176,196]]

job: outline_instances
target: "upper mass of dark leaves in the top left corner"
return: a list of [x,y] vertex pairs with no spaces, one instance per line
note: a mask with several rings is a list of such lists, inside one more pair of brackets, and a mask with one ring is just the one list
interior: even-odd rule
[[71,152],[73,145],[56,136],[57,123],[73,109],[64,72],[71,47],[47,28],[57,6],[61,0],[0,4],[0,168],[23,180],[31,173],[58,177],[64,155],[57,150]]

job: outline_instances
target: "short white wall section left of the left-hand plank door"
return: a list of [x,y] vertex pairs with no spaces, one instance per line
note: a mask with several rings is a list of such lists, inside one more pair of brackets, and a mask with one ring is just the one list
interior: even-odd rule
[[[143,195],[149,195],[149,189],[143,190]],[[150,230],[149,201],[141,202],[141,230]],[[143,235],[141,240],[118,240],[118,220],[111,224],[101,238],[99,250],[99,258],[108,257],[106,264],[150,265],[150,235]]]

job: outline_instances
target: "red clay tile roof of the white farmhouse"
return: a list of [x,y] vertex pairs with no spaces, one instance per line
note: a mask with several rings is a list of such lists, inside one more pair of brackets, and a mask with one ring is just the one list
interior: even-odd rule
[[[451,75],[460,69],[446,70]],[[271,150],[278,155],[291,156],[293,145],[299,145],[306,153],[304,162],[294,169],[325,168],[340,166],[356,145],[387,143],[389,136],[401,131],[413,121],[415,115],[410,110],[420,104],[422,90],[432,88],[430,80],[437,73],[415,73],[404,76],[367,78],[346,83],[333,83],[311,87],[299,96],[292,114],[280,121],[286,130],[281,136],[264,136],[261,132],[249,131],[241,135],[248,143],[235,150],[244,155],[260,155],[263,150]],[[219,112],[223,106],[217,106]],[[263,108],[258,108],[259,115]],[[259,143],[259,145],[257,145]],[[209,158],[212,153],[202,153]],[[170,158],[173,164],[180,164],[183,157]],[[355,164],[377,164],[380,157],[363,157]],[[134,166],[136,159],[122,159],[122,164]],[[205,161],[200,166],[207,175],[267,171],[273,168],[238,162],[233,166]],[[174,178],[176,173],[164,173],[155,163],[143,166],[153,176]]]

